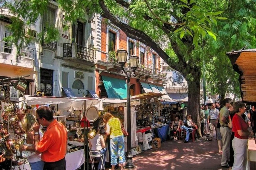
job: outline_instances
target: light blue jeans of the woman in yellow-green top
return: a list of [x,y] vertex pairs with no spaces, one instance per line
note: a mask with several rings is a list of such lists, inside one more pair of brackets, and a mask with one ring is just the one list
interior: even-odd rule
[[125,163],[123,135],[110,139],[110,151],[111,165],[117,165],[117,153],[119,156],[119,163]]

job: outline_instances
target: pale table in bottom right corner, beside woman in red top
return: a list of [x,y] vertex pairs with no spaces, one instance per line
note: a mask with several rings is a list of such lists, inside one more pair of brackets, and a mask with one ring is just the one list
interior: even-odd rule
[[246,170],[256,168],[256,144],[253,138],[249,138],[247,148],[247,163]]

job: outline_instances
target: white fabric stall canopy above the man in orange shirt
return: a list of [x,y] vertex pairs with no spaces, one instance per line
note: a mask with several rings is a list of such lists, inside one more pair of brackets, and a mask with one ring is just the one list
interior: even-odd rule
[[68,97],[56,97],[56,96],[29,96],[29,95],[25,95],[25,99],[28,105],[46,105],[46,104],[55,105],[55,104],[68,103],[68,102],[94,100],[94,98],[68,98]]

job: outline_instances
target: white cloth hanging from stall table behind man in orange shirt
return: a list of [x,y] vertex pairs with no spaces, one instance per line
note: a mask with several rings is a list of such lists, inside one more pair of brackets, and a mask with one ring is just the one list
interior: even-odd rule
[[[66,154],[66,165],[67,170],[75,170],[78,169],[85,161],[84,149],[80,149],[74,152],[70,152]],[[20,169],[23,169],[23,164],[20,165]],[[27,170],[31,170],[30,165],[25,164]],[[16,167],[18,169],[18,167]]]

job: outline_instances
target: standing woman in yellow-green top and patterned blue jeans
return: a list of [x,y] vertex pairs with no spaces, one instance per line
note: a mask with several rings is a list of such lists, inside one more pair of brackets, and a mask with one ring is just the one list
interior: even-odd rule
[[103,122],[106,125],[106,135],[110,135],[110,152],[111,152],[111,170],[115,169],[117,165],[117,153],[119,156],[119,163],[121,170],[123,170],[123,163],[125,163],[124,157],[124,135],[121,130],[121,122],[118,118],[115,118],[110,113],[103,115]]

